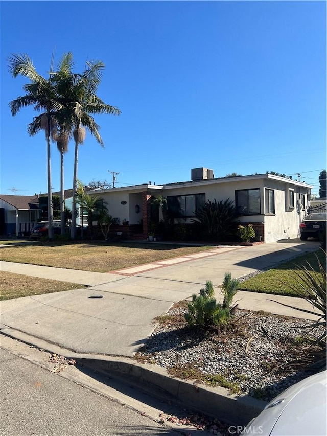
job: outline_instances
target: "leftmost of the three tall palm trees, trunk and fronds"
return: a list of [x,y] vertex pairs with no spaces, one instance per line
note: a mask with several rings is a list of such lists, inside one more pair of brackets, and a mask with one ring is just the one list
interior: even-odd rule
[[48,220],[49,220],[49,239],[53,239],[53,203],[51,186],[51,150],[50,138],[56,131],[52,103],[55,98],[51,75],[49,79],[37,73],[32,60],[27,54],[15,54],[8,58],[8,70],[15,78],[19,75],[30,79],[31,83],[24,85],[23,89],[27,93],[25,96],[18,97],[9,103],[10,110],[15,116],[22,107],[33,106],[34,110],[42,112],[34,117],[33,122],[28,125],[28,133],[33,136],[40,130],[45,130],[46,144],[48,149]]

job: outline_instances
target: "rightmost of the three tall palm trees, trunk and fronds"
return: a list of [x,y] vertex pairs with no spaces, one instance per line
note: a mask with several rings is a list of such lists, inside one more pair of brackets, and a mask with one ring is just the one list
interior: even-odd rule
[[100,126],[95,122],[92,114],[107,113],[119,115],[121,112],[114,106],[107,105],[96,95],[102,79],[104,64],[101,61],[86,62],[83,74],[69,74],[63,87],[60,88],[62,107],[67,123],[72,127],[75,141],[74,176],[73,176],[73,204],[71,238],[76,237],[76,189],[78,170],[78,146],[84,143],[86,130],[95,137],[103,147],[99,133]]

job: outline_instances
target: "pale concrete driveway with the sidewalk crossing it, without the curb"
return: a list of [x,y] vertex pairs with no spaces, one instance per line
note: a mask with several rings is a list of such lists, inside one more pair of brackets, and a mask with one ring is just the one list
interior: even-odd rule
[[[1,262],[2,271],[89,286],[3,301],[1,331],[17,330],[80,353],[130,357],[152,333],[154,318],[174,302],[198,293],[206,280],[219,286],[226,271],[239,278],[317,246],[316,242],[297,241],[224,245],[111,273]],[[218,288],[216,292],[219,297]],[[237,300],[241,309],[314,318],[277,303],[312,309],[293,297],[239,291]]]

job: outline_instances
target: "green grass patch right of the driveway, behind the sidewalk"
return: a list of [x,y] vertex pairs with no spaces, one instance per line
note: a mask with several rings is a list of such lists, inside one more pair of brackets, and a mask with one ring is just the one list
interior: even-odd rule
[[292,285],[296,284],[296,274],[298,269],[303,267],[310,268],[312,266],[312,276],[321,277],[318,267],[317,257],[321,264],[326,266],[326,255],[318,249],[315,253],[307,253],[299,256],[288,262],[284,262],[275,268],[251,277],[245,282],[240,283],[239,289],[243,291],[263,292],[268,294],[280,294],[289,296],[298,296],[292,289]]

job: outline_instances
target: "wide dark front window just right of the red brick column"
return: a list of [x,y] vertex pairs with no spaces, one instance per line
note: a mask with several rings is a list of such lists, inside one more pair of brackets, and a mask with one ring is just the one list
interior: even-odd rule
[[194,217],[205,204],[205,194],[174,195],[167,197],[168,210],[174,218]]

